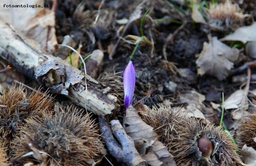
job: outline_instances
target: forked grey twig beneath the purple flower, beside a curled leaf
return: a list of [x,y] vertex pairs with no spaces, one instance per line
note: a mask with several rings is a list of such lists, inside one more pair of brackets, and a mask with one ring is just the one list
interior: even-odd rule
[[136,150],[133,140],[126,134],[118,120],[112,120],[110,123],[112,124],[113,134],[121,143],[121,146],[115,141],[108,123],[102,117],[99,117],[98,121],[106,146],[115,159],[125,162],[127,165],[146,165]]

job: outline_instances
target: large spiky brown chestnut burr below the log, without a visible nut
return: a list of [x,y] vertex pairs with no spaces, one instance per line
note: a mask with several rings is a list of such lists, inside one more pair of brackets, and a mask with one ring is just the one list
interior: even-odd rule
[[97,124],[90,120],[90,114],[75,107],[56,104],[55,114],[31,117],[19,128],[19,135],[11,144],[11,155],[23,163],[91,165],[105,155]]

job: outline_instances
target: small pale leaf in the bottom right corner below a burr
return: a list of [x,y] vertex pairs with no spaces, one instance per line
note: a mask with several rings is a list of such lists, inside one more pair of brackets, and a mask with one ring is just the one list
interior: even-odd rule
[[256,165],[256,151],[253,147],[247,147],[245,144],[240,155],[242,156],[243,163],[245,163],[246,166]]

